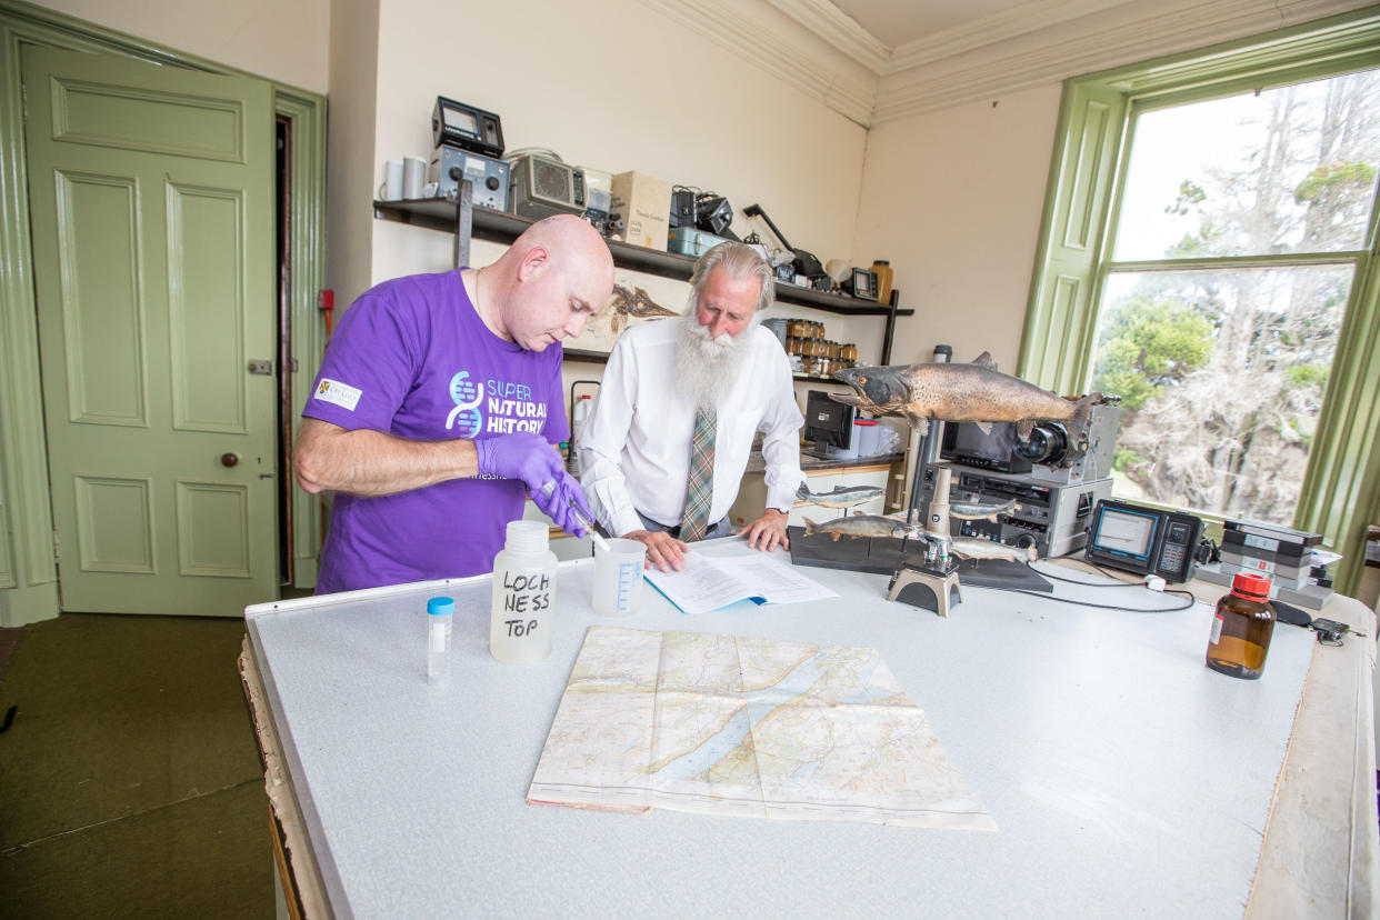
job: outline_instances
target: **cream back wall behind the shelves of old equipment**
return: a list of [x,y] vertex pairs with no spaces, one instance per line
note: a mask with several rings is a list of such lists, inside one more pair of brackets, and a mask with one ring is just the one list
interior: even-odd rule
[[[736,211],[759,203],[792,244],[821,259],[847,257],[862,177],[862,127],[639,0],[588,0],[577,8],[577,21],[570,4],[555,0],[531,0],[522,15],[502,4],[466,8],[466,33],[501,40],[469,41],[458,52],[455,29],[440,26],[455,19],[453,4],[381,0],[373,134],[338,130],[342,103],[335,98],[338,70],[331,72],[333,156],[339,145],[374,150],[363,189],[363,177],[351,175],[345,188],[333,174],[333,211],[351,199],[348,212],[333,221],[333,233],[349,228],[353,234],[363,196],[381,182],[385,160],[431,157],[431,112],[436,97],[446,95],[497,112],[509,150],[551,148],[567,163],[713,189],[729,196]],[[337,19],[341,15],[337,10]],[[535,28],[541,22],[570,25],[544,30]],[[593,36],[598,50],[589,44]],[[766,225],[741,215],[733,226],[770,239]],[[388,221],[371,221],[368,234],[368,279],[357,270],[356,246],[328,266],[341,306],[371,283],[451,266],[450,234]],[[500,251],[476,241],[471,261],[484,265]],[[684,283],[624,269],[617,281],[646,288],[669,309],[684,308]],[[785,306],[773,314],[817,319],[831,338],[857,342],[869,360],[879,357],[880,319],[846,320]],[[595,323],[567,345],[607,350],[611,334],[606,323]],[[602,371],[599,364],[567,361],[567,386],[598,379]]]

